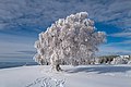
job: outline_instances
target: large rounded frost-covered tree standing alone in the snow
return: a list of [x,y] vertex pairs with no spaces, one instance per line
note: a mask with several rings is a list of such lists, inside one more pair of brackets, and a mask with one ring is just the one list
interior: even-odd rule
[[61,70],[61,61],[73,65],[88,63],[98,50],[97,46],[105,41],[105,33],[96,32],[94,21],[87,17],[86,12],[71,14],[40,33],[35,42],[35,61],[40,63],[43,59],[57,71]]

